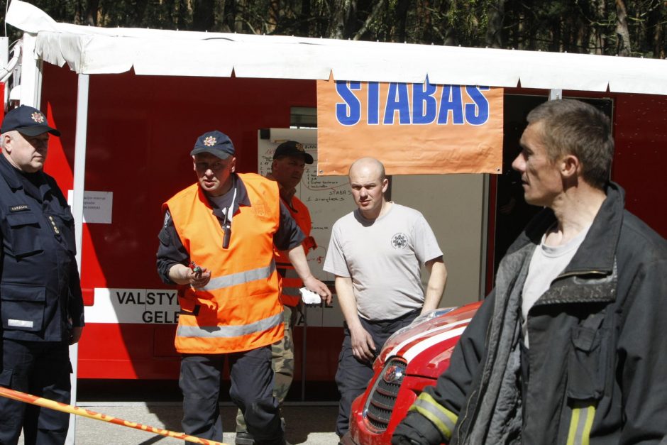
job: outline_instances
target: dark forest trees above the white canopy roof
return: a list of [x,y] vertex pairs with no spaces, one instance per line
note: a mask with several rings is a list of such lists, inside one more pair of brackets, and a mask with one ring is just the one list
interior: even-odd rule
[[56,21],[665,58],[666,0],[29,0]]

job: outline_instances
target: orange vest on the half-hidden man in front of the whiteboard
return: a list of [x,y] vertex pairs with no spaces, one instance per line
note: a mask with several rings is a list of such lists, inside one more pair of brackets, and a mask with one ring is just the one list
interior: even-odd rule
[[[292,206],[285,202],[285,207],[290,211],[294,221],[297,221],[297,226],[306,235],[302,246],[304,247],[304,253],[308,253],[311,248],[317,247],[314,238],[310,236],[312,221],[308,207],[297,197],[292,197]],[[297,306],[301,298],[299,289],[303,287],[304,282],[297,275],[297,271],[294,270],[294,266],[290,263],[290,258],[287,258],[287,254],[276,250],[275,263],[280,270],[280,284],[282,287],[280,301],[282,304],[287,304],[287,306]]]

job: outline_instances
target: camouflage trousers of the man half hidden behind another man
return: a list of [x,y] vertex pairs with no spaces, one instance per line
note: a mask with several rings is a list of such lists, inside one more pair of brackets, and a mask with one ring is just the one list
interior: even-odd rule
[[[292,342],[292,312],[297,314],[297,309],[284,306],[283,315],[285,316],[285,337],[271,345],[271,368],[273,368],[273,397],[282,407],[282,402],[287,397],[287,392],[292,385],[294,378],[294,343]],[[282,418],[282,414],[280,414]],[[236,412],[236,432],[247,432],[246,419],[243,419],[241,410]]]

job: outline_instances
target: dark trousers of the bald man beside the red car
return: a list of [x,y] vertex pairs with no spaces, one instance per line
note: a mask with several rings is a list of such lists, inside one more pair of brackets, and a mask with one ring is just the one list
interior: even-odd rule
[[[369,321],[359,317],[363,329],[368,331],[375,343],[375,353],[379,354],[385,341],[396,331],[409,325],[417,318],[421,309],[392,320]],[[373,378],[373,362],[359,361],[352,353],[352,337],[348,324],[343,324],[343,347],[338,356],[338,370],[336,370],[336,385],[341,393],[341,402],[338,404],[338,419],[336,419],[336,434],[343,436],[350,428],[350,410],[355,398],[363,394],[368,388],[368,382]]]

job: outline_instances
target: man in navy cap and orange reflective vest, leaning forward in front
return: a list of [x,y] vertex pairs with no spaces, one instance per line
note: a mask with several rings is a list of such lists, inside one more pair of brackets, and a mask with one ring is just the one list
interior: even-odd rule
[[[221,370],[229,394],[257,444],[285,444],[272,395],[271,345],[282,340],[283,306],[274,248],[287,253],[307,289],[331,292],[310,273],[304,234],[280,201],[276,182],[236,172],[233,143],[220,131],[197,138],[190,152],[197,183],[163,206],[158,273],[178,285],[176,349],[186,434],[222,441]],[[274,247],[275,246],[275,247]]]

